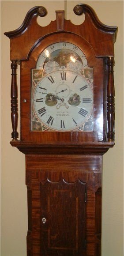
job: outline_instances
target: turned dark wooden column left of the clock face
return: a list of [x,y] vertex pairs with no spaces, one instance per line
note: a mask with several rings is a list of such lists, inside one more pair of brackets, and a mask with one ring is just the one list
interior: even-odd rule
[[12,133],[11,138],[13,140],[18,140],[19,133],[17,132],[18,126],[18,88],[17,88],[17,61],[12,60],[11,63],[11,124],[12,124]]

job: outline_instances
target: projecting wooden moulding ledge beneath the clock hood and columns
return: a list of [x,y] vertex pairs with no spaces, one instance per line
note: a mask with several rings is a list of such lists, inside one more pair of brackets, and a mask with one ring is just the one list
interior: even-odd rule
[[11,141],[24,154],[105,154],[114,142],[99,143],[35,143]]

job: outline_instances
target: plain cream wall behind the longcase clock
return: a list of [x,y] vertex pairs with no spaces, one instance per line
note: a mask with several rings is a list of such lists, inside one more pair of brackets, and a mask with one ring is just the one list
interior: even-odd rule
[[82,23],[83,17],[73,13],[79,3],[94,8],[102,23],[119,27],[114,67],[116,145],[103,156],[102,256],[123,256],[123,1],[113,0],[1,1],[1,256],[26,256],[27,233],[25,155],[9,144],[12,131],[10,40],[3,33],[17,29],[27,11],[37,5],[48,10],[46,17],[38,18],[42,26],[56,19],[55,10],[64,10],[64,7],[65,18],[72,23]]

